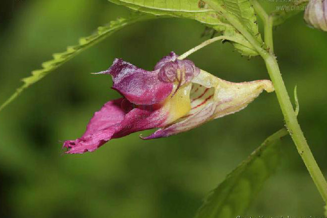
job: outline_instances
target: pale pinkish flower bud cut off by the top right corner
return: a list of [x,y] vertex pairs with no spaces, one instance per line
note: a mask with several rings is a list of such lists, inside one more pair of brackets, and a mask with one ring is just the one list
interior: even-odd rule
[[304,19],[309,25],[327,31],[327,0],[310,0]]

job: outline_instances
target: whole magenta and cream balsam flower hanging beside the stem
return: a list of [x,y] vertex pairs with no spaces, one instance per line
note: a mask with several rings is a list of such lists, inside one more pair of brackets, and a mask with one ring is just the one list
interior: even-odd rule
[[159,128],[142,139],[188,131],[210,120],[245,108],[263,90],[274,91],[269,80],[232,83],[179,60],[174,52],[163,57],[154,71],[122,59],[99,74],[110,74],[122,98],[107,102],[76,140],[65,141],[66,153],[95,151],[111,139]]

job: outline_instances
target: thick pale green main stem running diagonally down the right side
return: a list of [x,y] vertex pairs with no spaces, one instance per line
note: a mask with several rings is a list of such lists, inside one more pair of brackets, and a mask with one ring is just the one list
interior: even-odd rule
[[[302,157],[303,162],[305,163],[313,181],[317,189],[319,190],[321,196],[324,201],[327,203],[327,182],[324,178],[323,173],[321,172],[310,148],[306,141],[306,138],[303,135],[301,127],[298,123],[297,116],[293,110],[292,103],[290,101],[290,97],[287,93],[282,75],[279,70],[279,66],[276,60],[276,57],[273,53],[268,52],[263,49],[262,44],[256,40],[256,38],[247,30],[247,28],[239,21],[239,19],[233,14],[226,11],[223,5],[220,5],[215,0],[205,0],[214,10],[221,13],[228,21],[231,23],[238,31],[240,31],[245,38],[253,45],[254,48],[258,51],[258,53],[264,59],[269,76],[274,84],[276,95],[280,107],[282,109],[286,127],[297,147],[299,154]],[[271,21],[272,22],[272,21]],[[265,36],[268,41],[272,41],[272,25],[269,25],[269,29],[267,27],[267,31],[265,33],[269,34]],[[269,42],[270,43],[270,42]],[[272,46],[272,44],[270,45]],[[272,47],[270,48],[272,49]]]

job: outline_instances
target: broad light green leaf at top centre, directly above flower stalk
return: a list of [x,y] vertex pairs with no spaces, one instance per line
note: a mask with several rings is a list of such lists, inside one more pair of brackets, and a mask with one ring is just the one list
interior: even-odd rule
[[[210,8],[203,0],[109,0],[130,9],[154,15],[166,15],[197,20],[222,34],[237,38],[235,48],[243,55],[258,55],[253,46],[219,13]],[[249,0],[220,0],[228,10],[239,17],[249,31],[261,40],[256,24],[256,16]]]

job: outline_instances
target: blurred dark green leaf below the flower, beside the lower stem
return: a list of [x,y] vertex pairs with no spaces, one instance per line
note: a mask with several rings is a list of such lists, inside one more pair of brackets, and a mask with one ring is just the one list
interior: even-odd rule
[[268,137],[207,197],[195,218],[231,218],[244,215],[280,159],[279,139],[285,128]]

